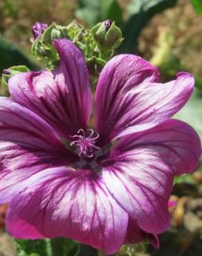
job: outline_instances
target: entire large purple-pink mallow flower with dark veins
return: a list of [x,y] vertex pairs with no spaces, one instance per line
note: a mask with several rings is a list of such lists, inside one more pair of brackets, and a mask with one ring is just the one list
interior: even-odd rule
[[[93,100],[84,57],[55,39],[54,71],[13,75],[0,98],[0,203],[19,239],[71,237],[106,254],[169,226],[174,176],[199,164],[196,131],[171,119],[194,78],[161,84],[157,68],[117,55],[102,69]],[[90,122],[89,122],[90,120]],[[94,123],[93,123],[94,120]],[[90,124],[90,125],[89,125]]]

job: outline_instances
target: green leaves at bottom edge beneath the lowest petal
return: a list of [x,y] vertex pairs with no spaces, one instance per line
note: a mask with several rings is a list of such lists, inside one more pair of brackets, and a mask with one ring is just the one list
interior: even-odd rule
[[15,239],[17,256],[77,256],[80,245],[62,237],[55,239]]

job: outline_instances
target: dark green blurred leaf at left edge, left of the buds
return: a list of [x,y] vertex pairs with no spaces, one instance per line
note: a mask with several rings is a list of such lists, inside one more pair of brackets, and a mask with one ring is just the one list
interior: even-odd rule
[[0,73],[5,68],[16,65],[28,66],[37,70],[37,66],[15,44],[0,36]]

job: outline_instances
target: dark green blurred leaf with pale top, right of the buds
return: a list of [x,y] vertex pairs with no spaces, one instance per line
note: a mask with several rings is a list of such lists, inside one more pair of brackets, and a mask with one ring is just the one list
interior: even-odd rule
[[173,7],[177,0],[131,0],[127,6],[129,19],[122,27],[125,40],[119,48],[120,52],[132,53],[137,47],[138,36],[147,25],[149,19],[163,10]]

